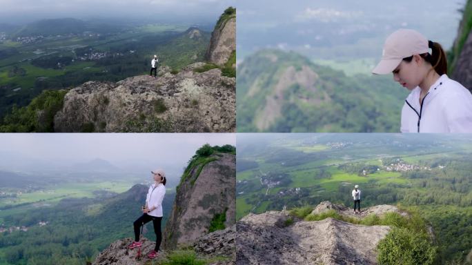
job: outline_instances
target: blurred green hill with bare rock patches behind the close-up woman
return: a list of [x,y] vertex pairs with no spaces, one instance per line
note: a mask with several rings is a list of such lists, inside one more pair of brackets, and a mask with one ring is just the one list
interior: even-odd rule
[[391,77],[319,66],[295,52],[261,50],[237,74],[238,132],[398,132],[408,92]]

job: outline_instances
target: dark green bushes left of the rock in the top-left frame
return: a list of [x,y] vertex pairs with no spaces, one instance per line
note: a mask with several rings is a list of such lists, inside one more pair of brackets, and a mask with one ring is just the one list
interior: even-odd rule
[[45,90],[23,108],[13,107],[3,119],[0,131],[6,133],[54,132],[54,116],[61,110],[67,90]]

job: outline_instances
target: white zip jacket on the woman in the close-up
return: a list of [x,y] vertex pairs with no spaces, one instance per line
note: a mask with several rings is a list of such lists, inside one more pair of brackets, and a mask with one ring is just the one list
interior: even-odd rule
[[472,133],[472,95],[442,75],[420,104],[421,88],[411,91],[402,108],[402,133]]

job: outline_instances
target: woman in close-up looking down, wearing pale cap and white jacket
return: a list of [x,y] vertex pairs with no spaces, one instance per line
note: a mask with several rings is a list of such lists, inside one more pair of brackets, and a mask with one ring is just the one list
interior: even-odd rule
[[411,90],[402,108],[402,133],[472,133],[471,92],[447,77],[439,43],[415,30],[397,30],[386,39],[382,60],[372,72],[392,72]]

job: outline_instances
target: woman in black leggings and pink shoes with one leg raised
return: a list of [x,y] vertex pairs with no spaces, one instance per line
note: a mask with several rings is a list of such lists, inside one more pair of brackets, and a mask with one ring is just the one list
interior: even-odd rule
[[159,246],[161,246],[162,233],[161,233],[161,221],[162,221],[162,200],[166,194],[166,174],[164,170],[158,169],[151,171],[154,177],[154,183],[151,184],[146,195],[146,206],[144,206],[143,215],[139,217],[133,225],[135,226],[135,242],[133,242],[129,248],[137,248],[141,246],[139,242],[139,228],[144,224],[153,221],[154,232],[156,233],[156,246],[154,251],[148,254],[148,258],[154,259],[157,257],[159,252]]

